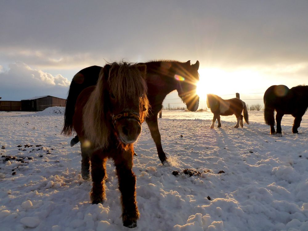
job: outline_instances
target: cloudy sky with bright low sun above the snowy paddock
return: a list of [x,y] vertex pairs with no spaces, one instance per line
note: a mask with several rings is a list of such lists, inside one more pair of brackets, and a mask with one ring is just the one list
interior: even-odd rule
[[306,0],[0,0],[0,97],[66,98],[85,67],[171,59],[199,60],[199,107],[207,93],[262,103],[271,85],[308,84],[307,12]]

